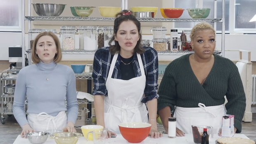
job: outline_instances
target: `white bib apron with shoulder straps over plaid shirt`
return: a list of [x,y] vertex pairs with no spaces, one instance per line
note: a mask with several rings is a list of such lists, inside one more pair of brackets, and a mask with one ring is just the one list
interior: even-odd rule
[[108,130],[120,134],[120,123],[148,123],[148,111],[146,105],[141,102],[144,98],[146,76],[140,54],[137,54],[137,58],[142,76],[130,80],[111,78],[117,57],[118,53],[113,57],[106,81],[108,97],[104,99],[104,122]]

